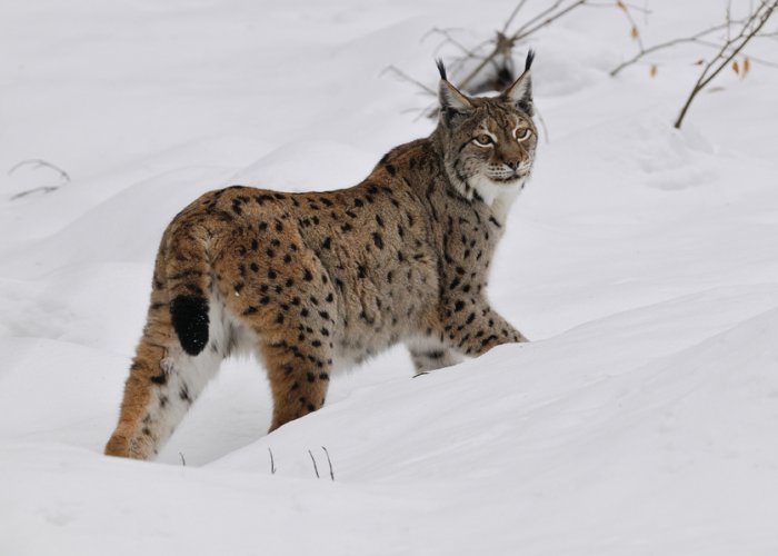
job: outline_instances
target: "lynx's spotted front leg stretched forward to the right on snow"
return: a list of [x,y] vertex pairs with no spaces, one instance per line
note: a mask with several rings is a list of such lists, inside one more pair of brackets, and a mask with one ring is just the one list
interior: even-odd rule
[[460,354],[478,357],[500,344],[529,341],[486,301],[455,300],[443,310],[440,339]]

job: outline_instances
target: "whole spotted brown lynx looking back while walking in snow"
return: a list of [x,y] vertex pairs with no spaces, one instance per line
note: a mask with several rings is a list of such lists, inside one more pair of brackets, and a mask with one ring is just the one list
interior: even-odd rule
[[486,298],[508,208],[537,146],[530,67],[468,97],[438,61],[439,120],[349,189],[233,186],[164,231],[151,305],[106,454],[146,459],[220,361],[252,351],[273,399],[270,430],[325,404],[336,370],[406,342],[418,373],[527,339]]

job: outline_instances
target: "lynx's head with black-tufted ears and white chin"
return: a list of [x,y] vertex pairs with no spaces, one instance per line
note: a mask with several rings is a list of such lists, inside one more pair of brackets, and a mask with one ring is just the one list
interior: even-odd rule
[[452,186],[467,199],[480,197],[488,205],[512,198],[532,169],[538,132],[532,122],[530,67],[498,97],[467,97],[440,70],[440,120],[435,131]]

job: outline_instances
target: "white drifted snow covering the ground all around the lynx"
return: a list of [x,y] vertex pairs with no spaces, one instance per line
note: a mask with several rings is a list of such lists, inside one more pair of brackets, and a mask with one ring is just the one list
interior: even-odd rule
[[[475,43],[512,8],[0,7],[0,554],[778,552],[778,73],[722,73],[674,130],[700,51],[610,78],[616,9],[532,39],[550,140],[490,285],[532,342],[417,378],[393,349],[271,435],[261,368],[231,360],[156,463],[101,455],[169,219],[235,182],[357,182],[431,129],[383,68],[433,86],[425,33]],[[649,8],[647,44],[722,11]],[[38,158],[71,182],[12,200],[59,182],[6,175]]]

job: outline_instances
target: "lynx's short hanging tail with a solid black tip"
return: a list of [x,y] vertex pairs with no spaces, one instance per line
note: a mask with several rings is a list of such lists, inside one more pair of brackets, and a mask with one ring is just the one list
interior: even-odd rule
[[169,229],[166,275],[170,320],[183,350],[196,356],[208,345],[210,264],[206,239],[196,227]]

